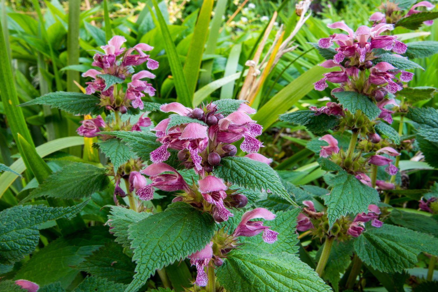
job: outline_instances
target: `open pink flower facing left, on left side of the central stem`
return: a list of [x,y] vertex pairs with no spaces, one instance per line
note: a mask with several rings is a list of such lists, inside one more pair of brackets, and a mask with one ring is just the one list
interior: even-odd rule
[[[160,174],[167,171],[173,173]],[[190,188],[184,181],[184,178],[179,174],[179,172],[177,172],[176,169],[170,165],[167,165],[166,163],[153,163],[143,169],[141,173],[149,176],[149,179],[152,180],[152,183],[142,187],[140,190],[137,190],[136,193],[140,200],[152,200],[154,195],[154,186],[159,190],[164,190],[167,192],[174,192],[177,190],[184,190],[187,193],[190,192]]]

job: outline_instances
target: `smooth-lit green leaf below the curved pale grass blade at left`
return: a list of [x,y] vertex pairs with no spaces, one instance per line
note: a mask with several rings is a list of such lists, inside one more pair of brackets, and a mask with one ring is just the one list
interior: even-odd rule
[[88,163],[74,162],[49,175],[23,201],[42,196],[78,199],[104,190],[108,184],[109,178],[105,169]]

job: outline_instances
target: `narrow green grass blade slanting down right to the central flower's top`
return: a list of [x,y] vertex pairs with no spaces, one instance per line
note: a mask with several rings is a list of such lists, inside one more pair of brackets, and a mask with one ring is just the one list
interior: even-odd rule
[[182,103],[184,106],[191,106],[192,99],[187,87],[186,78],[184,77],[183,67],[181,66],[177,48],[172,41],[166,21],[159,10],[157,2],[152,0],[152,3],[155,7],[155,13],[157,14],[159,27],[164,41],[164,49],[166,50],[167,58],[169,59],[170,70],[172,71],[175,90],[177,91],[177,102]]

